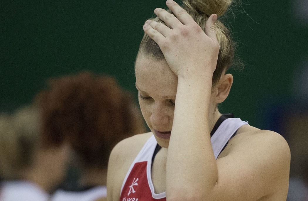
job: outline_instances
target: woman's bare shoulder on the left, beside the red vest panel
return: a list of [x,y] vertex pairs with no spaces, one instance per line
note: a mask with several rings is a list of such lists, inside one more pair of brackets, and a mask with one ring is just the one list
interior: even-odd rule
[[132,162],[152,133],[128,137],[119,142],[111,151],[107,172],[107,200],[119,200],[120,190]]

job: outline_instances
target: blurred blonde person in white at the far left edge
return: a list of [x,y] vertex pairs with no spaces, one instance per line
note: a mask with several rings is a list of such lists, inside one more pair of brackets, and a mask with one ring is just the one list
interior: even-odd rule
[[39,108],[0,116],[0,200],[47,201],[62,182],[69,146],[42,132]]

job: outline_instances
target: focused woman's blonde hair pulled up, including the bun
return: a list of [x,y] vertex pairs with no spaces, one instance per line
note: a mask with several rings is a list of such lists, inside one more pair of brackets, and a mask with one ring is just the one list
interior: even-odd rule
[[[183,0],[183,8],[187,13],[192,16],[197,24],[205,31],[205,24],[211,14],[222,16],[225,14],[228,7],[231,5],[231,0]],[[171,10],[167,10],[172,13]],[[158,17],[152,20],[164,23]],[[230,31],[225,25],[217,20],[217,40],[220,45],[216,70],[213,73],[213,85],[217,84],[221,74],[227,71],[233,65],[234,48],[235,44],[231,38]],[[164,59],[159,46],[147,35],[144,34],[140,43],[139,54],[144,54],[156,60]],[[206,53],[205,53],[206,54]]]

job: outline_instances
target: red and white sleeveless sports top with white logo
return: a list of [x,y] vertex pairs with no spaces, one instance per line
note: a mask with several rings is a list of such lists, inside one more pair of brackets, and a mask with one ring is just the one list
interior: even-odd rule
[[[245,121],[241,121],[241,119],[239,118],[226,118],[224,121],[221,122],[221,124],[218,126],[217,130],[213,133],[211,137],[212,147],[216,159],[221,153],[221,151],[224,149],[225,145],[229,142],[230,138],[233,137],[237,129],[239,129],[242,125],[248,125],[248,123]],[[149,197],[151,197],[151,200],[165,200],[166,192],[156,194],[154,192],[154,185],[151,178],[152,157],[156,149],[156,145],[156,139],[154,135],[152,135],[144,144],[143,148],[140,150],[139,154],[130,166],[121,187],[121,198],[123,200],[142,200],[141,197],[136,196],[138,195],[138,193],[134,193],[134,191],[139,191],[137,189],[137,184],[135,184],[137,183],[137,181],[135,181],[135,178],[138,179],[138,183],[144,183],[144,186],[148,186],[148,193],[152,194],[147,195],[148,200],[150,200]],[[144,166],[140,165],[141,163],[144,164]],[[140,173],[141,166],[142,168],[146,169],[144,170],[144,173]],[[147,181],[144,181],[143,178]],[[130,193],[133,184],[135,184],[134,191],[133,193]],[[144,186],[142,191],[145,191],[146,189]],[[128,196],[134,196],[134,198],[129,198]]]

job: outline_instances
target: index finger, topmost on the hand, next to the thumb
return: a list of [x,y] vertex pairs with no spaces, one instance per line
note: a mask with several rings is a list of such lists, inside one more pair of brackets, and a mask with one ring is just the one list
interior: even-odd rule
[[173,0],[168,0],[166,2],[168,8],[174,13],[176,18],[180,20],[180,22],[184,25],[188,25],[189,23],[195,23],[193,18],[184,10],[179,4],[177,4]]

